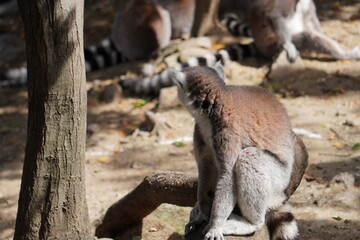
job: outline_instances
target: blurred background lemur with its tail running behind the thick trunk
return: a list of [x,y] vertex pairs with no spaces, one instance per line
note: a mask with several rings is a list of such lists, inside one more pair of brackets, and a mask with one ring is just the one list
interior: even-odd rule
[[[116,15],[111,38],[84,49],[86,72],[122,62],[148,60],[170,39],[189,34],[195,0],[131,0]],[[27,81],[25,67],[0,74],[0,87],[21,86]]]

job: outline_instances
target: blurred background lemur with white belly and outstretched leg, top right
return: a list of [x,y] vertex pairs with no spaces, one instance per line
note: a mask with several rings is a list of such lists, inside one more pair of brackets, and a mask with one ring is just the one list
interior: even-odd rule
[[329,54],[337,60],[360,59],[360,46],[344,50],[322,32],[313,0],[238,2],[245,9],[255,45],[264,56],[272,58],[284,49],[290,62],[303,51]]

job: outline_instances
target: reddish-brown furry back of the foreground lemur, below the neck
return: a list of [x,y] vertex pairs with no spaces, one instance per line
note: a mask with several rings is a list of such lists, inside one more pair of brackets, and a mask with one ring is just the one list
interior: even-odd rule
[[246,145],[275,153],[292,144],[290,121],[274,95],[252,86],[225,86],[225,89],[223,107],[229,112],[222,119],[249,141]]

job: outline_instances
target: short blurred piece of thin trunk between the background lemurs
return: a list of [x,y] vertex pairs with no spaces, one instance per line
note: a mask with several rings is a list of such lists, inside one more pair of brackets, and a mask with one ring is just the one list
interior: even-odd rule
[[220,25],[218,21],[219,2],[220,0],[196,0],[191,36],[204,36],[212,28]]

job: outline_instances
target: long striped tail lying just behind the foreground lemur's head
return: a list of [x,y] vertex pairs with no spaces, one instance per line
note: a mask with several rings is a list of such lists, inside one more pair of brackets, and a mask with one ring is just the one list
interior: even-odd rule
[[[215,54],[206,54],[203,57],[192,57],[187,62],[180,63],[177,70],[195,66],[213,66],[217,61],[223,65],[230,61],[240,61],[243,58],[256,55],[256,48],[253,43],[242,45],[240,43],[230,45],[218,50]],[[151,77],[125,79],[120,81],[123,91],[130,96],[158,96],[160,90],[173,86],[167,69]]]

